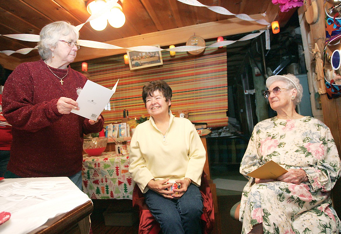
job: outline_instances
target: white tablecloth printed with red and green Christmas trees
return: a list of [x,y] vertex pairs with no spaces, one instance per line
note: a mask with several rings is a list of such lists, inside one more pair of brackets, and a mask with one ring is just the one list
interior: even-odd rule
[[104,152],[83,155],[82,190],[91,199],[132,199],[135,182],[128,171],[129,155]]

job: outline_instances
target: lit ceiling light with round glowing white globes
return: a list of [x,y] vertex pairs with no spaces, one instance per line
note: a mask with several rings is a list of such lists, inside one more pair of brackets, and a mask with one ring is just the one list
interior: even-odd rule
[[[106,2],[109,0],[89,0],[87,1],[87,11],[90,15],[96,14],[106,7]],[[119,1],[118,1],[119,2]],[[90,25],[97,31],[102,31],[109,24],[114,28],[120,28],[125,23],[125,15],[122,12],[122,6],[119,3],[115,3],[113,8],[110,9],[108,14],[90,20]]]

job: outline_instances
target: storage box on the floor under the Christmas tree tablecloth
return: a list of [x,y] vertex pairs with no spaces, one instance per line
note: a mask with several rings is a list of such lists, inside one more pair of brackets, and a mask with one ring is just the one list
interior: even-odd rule
[[103,212],[104,223],[106,226],[133,226],[138,222],[138,213],[135,209],[129,210],[110,210]]

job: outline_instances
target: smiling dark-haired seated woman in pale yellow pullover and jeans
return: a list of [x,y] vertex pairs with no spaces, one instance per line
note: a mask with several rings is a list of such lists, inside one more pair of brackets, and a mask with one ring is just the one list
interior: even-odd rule
[[[150,119],[136,126],[129,172],[164,234],[201,233],[203,143],[191,121],[170,111],[172,89],[165,81],[144,85],[142,98]],[[167,181],[180,189],[170,191]]]

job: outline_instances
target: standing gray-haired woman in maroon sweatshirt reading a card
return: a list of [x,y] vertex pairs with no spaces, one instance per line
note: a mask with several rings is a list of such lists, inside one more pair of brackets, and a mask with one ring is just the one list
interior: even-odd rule
[[5,178],[67,176],[81,189],[83,134],[100,132],[104,120],[70,113],[79,109],[75,100],[87,81],[69,66],[78,37],[70,23],[46,25],[38,42],[42,59],[20,64],[7,79],[2,107],[13,143]]

